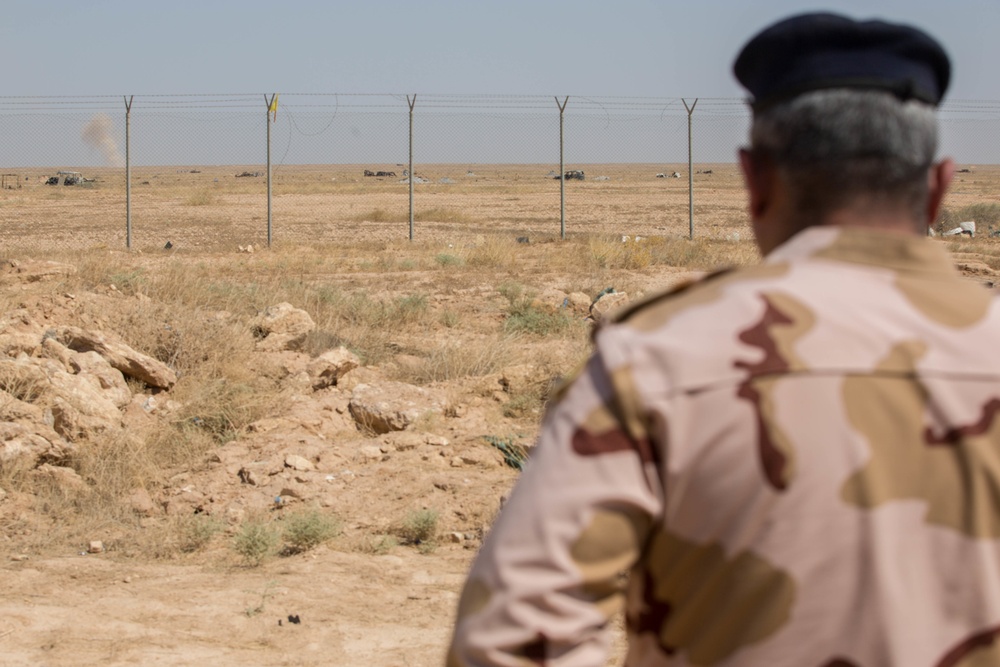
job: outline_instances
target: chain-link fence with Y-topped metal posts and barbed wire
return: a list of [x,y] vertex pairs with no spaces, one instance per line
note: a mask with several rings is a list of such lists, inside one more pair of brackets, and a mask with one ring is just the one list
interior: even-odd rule
[[[995,201],[1000,102],[940,117],[968,169],[948,204]],[[0,244],[733,238],[749,121],[726,98],[0,97]]]

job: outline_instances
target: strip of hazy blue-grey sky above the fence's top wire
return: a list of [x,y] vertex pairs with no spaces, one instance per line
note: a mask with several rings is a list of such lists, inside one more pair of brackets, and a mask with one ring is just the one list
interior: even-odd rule
[[1000,99],[998,0],[4,0],[0,96],[493,93],[734,97],[740,45],[808,9],[906,21],[954,99]]

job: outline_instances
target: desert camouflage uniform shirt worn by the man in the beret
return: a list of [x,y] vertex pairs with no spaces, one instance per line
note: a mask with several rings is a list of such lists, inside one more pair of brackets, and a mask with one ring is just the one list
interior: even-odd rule
[[[1000,664],[1000,306],[807,229],[620,313],[544,420],[449,667]],[[629,576],[625,577],[624,572]]]

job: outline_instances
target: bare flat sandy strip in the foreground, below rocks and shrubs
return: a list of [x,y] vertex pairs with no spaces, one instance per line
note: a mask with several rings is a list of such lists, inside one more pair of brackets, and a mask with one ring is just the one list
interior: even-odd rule
[[252,570],[8,562],[0,664],[441,665],[469,556],[454,545],[427,556],[320,548]]

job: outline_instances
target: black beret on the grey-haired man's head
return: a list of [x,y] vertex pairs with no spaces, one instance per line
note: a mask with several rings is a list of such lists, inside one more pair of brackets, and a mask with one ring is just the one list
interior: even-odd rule
[[884,21],[802,14],[765,28],[733,64],[754,111],[825,88],[885,90],[937,105],[951,78],[948,54],[930,35]]

